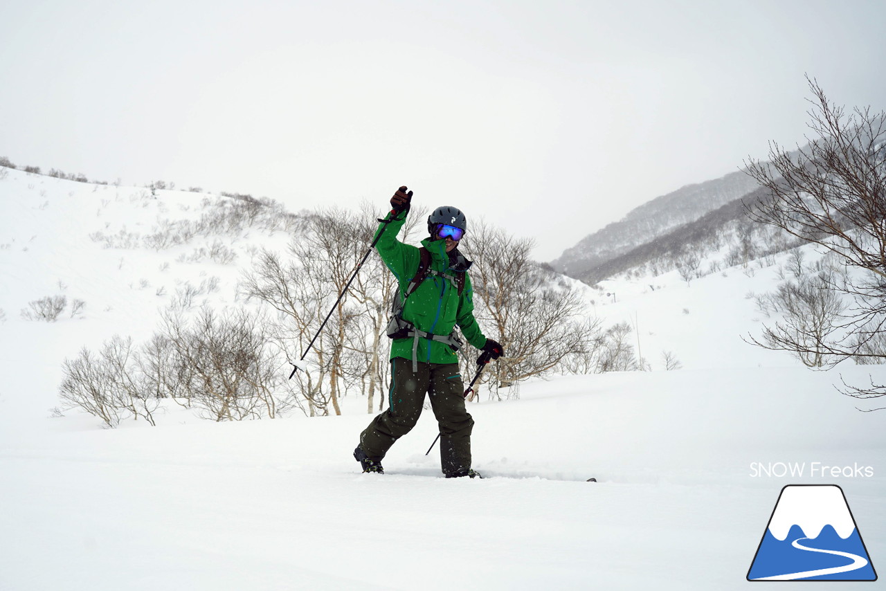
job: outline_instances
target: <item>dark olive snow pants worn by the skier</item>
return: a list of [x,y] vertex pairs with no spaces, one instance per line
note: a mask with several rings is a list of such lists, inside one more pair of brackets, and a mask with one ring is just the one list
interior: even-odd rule
[[360,447],[381,462],[394,441],[416,426],[422,414],[424,393],[437,417],[440,432],[440,466],[446,474],[470,469],[470,432],[474,419],[464,408],[464,384],[458,363],[418,363],[400,357],[391,360],[388,409],[376,416],[360,434]]

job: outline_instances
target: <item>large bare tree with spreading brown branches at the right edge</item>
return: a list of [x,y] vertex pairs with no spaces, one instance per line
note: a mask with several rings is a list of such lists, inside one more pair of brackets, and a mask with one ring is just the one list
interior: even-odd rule
[[[835,253],[850,271],[828,289],[842,292],[852,304],[828,338],[800,331],[797,338],[764,346],[821,352],[835,362],[886,362],[886,352],[877,346],[886,323],[886,113],[870,107],[846,113],[818,82],[807,80],[813,137],[794,154],[773,143],[768,162],[750,161],[748,172],[768,190],[768,198],[746,204],[746,210],[755,222]],[[773,331],[777,335],[778,327]],[[877,398],[886,389],[872,384],[844,393]]]

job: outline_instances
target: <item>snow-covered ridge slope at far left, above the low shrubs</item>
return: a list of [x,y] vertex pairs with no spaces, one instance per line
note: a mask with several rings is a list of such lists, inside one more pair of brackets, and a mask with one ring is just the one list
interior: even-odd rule
[[261,245],[283,244],[277,230],[294,220],[272,205],[211,193],[0,171],[0,257],[9,277],[0,308],[9,318],[29,301],[64,295],[85,302],[79,317],[143,334],[135,316],[144,320],[145,310],[189,285],[202,284],[203,299],[230,303],[237,267]]

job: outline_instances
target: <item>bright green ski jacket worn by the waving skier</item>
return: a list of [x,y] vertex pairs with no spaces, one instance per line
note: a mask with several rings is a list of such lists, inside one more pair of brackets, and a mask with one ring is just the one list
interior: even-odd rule
[[[416,276],[421,260],[416,246],[405,245],[397,239],[400,228],[406,222],[407,213],[401,213],[399,218],[392,213],[388,214],[385,220],[391,222],[381,223],[376,231],[376,236],[378,232],[384,232],[378,238],[376,250],[387,268],[391,269],[397,278],[400,295],[406,292],[409,281]],[[448,335],[458,324],[462,335],[472,346],[483,348],[486,345],[486,337],[474,319],[473,289],[468,275],[471,262],[465,259],[457,248],[447,253],[444,240],[432,241],[430,238],[425,238],[422,245],[431,253],[431,269],[452,275],[465,274],[464,289],[459,295],[452,282],[446,278],[436,275],[425,277],[406,300],[403,306],[403,320],[412,323],[419,330],[440,336]],[[391,344],[391,359],[402,357],[411,360],[412,349],[412,338],[394,338]],[[416,361],[457,363],[458,355],[446,343],[431,338],[420,338],[416,349]]]

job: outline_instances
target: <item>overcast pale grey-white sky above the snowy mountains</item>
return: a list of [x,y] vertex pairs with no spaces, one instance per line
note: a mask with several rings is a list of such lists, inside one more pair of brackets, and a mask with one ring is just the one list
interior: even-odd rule
[[886,107],[883,23],[882,0],[4,0],[0,156],[293,208],[405,183],[549,261],[803,142],[804,73]]

